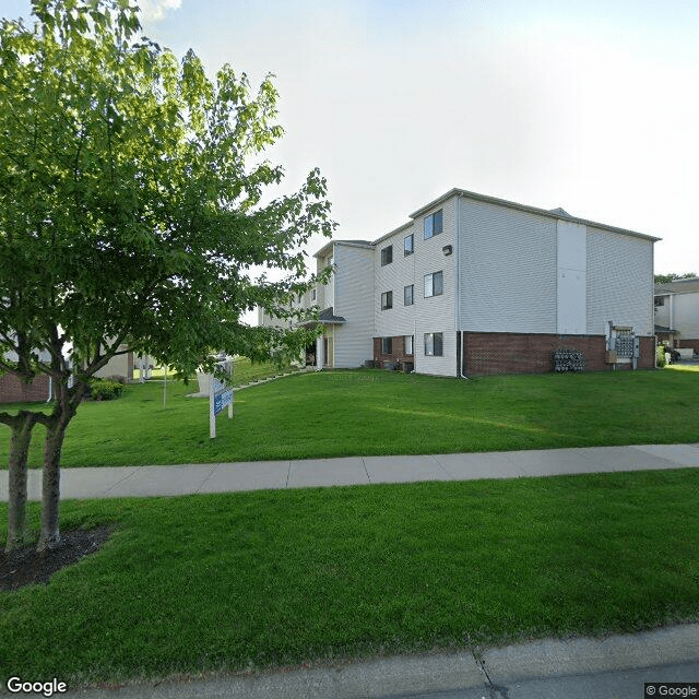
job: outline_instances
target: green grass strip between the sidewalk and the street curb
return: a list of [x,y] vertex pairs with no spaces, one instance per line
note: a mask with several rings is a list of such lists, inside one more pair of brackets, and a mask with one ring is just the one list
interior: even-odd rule
[[118,682],[697,620],[697,491],[677,470],[67,501],[63,529],[116,533],[0,594],[1,674]]

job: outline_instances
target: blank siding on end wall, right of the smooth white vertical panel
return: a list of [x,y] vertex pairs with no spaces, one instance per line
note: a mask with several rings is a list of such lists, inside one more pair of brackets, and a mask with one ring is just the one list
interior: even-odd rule
[[650,240],[588,226],[588,333],[608,321],[652,335],[653,246]]

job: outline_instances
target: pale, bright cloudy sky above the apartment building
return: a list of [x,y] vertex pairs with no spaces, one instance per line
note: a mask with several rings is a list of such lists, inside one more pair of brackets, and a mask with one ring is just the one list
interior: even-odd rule
[[141,7],[147,36],[212,76],[275,75],[285,135],[268,157],[289,193],[320,168],[335,238],[376,239],[458,187],[662,238],[656,273],[699,274],[696,0]]

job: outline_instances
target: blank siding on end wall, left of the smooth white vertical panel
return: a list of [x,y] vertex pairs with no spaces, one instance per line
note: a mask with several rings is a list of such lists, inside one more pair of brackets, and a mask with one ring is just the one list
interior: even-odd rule
[[556,220],[461,199],[460,327],[556,332]]

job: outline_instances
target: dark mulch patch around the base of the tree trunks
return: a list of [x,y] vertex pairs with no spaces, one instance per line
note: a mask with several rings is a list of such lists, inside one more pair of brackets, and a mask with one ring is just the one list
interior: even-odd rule
[[58,548],[36,552],[36,545],[23,546],[11,553],[0,552],[0,592],[19,590],[36,582],[47,583],[50,577],[94,554],[109,538],[112,529],[106,525],[93,530],[61,532]]

